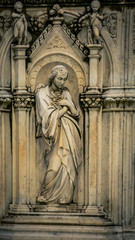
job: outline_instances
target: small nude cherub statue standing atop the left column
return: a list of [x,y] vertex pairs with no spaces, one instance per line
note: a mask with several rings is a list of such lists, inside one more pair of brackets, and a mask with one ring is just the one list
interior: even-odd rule
[[25,15],[22,13],[23,4],[16,2],[14,4],[14,12],[12,18],[14,19],[14,38],[17,39],[18,45],[27,44],[27,20]]

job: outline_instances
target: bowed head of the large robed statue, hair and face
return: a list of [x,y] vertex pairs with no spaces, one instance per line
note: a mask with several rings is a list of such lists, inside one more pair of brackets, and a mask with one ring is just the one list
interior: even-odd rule
[[65,66],[63,65],[56,65],[55,67],[52,68],[51,74],[49,75],[49,85],[52,85],[54,81],[60,82],[58,85],[60,86],[61,84],[64,85],[65,81],[68,78],[68,70],[66,69]]

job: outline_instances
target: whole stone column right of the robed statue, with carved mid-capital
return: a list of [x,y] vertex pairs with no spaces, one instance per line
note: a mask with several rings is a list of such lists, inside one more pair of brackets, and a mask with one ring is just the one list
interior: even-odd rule
[[102,46],[88,45],[87,47],[90,51],[89,86],[81,94],[81,103],[85,112],[85,204],[88,206],[88,211],[93,211],[94,206],[100,206],[101,196],[102,96],[98,73],[99,51]]

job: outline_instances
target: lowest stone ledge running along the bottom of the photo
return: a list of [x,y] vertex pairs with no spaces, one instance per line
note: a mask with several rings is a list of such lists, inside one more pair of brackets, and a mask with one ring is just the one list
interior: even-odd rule
[[122,240],[122,227],[59,226],[59,225],[1,225],[1,240]]

